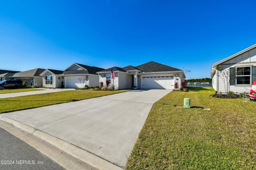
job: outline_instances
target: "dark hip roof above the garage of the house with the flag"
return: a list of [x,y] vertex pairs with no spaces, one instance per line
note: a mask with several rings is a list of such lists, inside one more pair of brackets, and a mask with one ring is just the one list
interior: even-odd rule
[[142,72],[165,72],[165,71],[182,71],[180,69],[175,69],[174,67],[170,67],[164,64],[160,64],[154,61],[141,64],[136,66]]

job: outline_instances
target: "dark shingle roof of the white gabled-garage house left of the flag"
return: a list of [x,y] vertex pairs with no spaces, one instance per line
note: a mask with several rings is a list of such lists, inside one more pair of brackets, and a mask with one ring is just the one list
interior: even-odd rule
[[75,63],[75,64],[83,67],[86,70],[67,70],[67,71],[64,71],[63,74],[97,74],[98,71],[104,70],[100,67],[94,67],[94,66],[78,64],[78,63]]

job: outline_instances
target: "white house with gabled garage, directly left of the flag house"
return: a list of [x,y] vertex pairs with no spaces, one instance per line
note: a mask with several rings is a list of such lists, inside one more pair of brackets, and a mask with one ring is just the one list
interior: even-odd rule
[[99,75],[97,72],[104,70],[99,67],[74,63],[63,71],[65,88],[83,88],[99,86]]

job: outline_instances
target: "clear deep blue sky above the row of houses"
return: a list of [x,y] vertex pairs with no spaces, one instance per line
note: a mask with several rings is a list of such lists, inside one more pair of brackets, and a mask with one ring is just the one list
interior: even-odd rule
[[210,77],[256,43],[255,1],[1,1],[0,69],[156,61]]

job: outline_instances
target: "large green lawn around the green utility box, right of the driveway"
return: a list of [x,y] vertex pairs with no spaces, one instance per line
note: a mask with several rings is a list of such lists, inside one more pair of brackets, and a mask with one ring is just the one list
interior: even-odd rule
[[[256,102],[212,93],[190,88],[155,103],[126,169],[255,169]],[[187,97],[193,108],[182,108]]]

